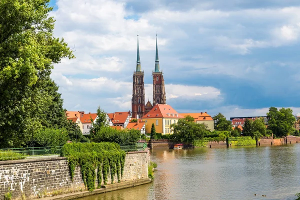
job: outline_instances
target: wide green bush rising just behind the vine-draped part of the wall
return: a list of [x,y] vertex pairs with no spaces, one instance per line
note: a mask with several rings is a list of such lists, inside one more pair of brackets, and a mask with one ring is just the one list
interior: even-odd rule
[[96,133],[93,134],[91,141],[93,142],[115,142],[135,144],[140,138],[140,132],[135,129],[117,130],[111,127],[102,127]]

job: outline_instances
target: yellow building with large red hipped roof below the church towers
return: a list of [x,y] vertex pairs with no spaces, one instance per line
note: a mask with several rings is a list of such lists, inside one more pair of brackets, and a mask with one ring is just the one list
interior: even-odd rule
[[183,118],[182,115],[178,114],[170,105],[167,104],[156,104],[154,107],[144,116],[142,121],[145,122],[146,133],[151,132],[152,123],[155,125],[155,131],[161,134],[171,134],[170,125],[177,123],[179,118]]

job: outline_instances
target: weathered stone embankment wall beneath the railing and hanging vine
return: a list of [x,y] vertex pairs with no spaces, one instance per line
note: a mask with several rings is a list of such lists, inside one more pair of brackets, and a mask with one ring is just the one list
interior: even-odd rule
[[[146,178],[148,161],[148,149],[127,153],[121,181]],[[110,177],[108,177],[109,183],[111,183]],[[62,190],[73,192],[84,189],[79,167],[76,168],[71,182],[65,157],[0,161],[0,199],[3,199],[3,195],[9,190],[15,199],[22,195],[34,198],[50,192]]]

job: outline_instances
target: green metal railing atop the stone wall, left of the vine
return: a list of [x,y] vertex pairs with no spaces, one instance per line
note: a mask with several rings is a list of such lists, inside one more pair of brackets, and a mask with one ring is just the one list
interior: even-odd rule
[[41,156],[59,156],[62,146],[43,146],[26,148],[2,148],[0,160],[25,159]]

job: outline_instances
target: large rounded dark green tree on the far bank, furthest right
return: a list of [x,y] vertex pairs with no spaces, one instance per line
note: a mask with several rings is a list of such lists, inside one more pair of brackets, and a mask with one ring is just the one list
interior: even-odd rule
[[268,119],[268,129],[272,130],[277,137],[286,136],[294,131],[293,124],[295,117],[290,108],[270,107],[266,113]]

